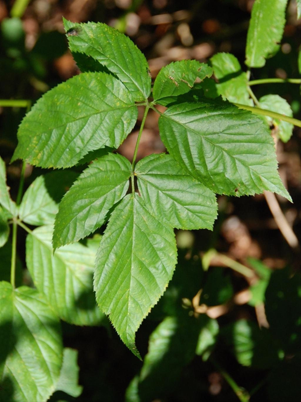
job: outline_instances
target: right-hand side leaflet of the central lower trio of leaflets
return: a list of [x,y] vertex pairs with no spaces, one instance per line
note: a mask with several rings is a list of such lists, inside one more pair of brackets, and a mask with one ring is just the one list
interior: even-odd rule
[[190,176],[170,156],[150,155],[135,168],[146,207],[175,228],[211,229],[217,215],[212,191]]

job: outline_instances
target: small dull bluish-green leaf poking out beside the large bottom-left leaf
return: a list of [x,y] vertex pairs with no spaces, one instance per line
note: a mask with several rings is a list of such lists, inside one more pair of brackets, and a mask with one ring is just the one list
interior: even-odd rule
[[73,398],[77,398],[83,392],[83,387],[78,385],[77,354],[74,349],[64,348],[63,365],[55,388],[55,391],[63,391]]

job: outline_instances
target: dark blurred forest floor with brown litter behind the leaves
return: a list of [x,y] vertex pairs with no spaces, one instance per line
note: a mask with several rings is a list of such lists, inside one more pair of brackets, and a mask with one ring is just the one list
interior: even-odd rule
[[[1,98],[30,99],[34,103],[50,88],[80,73],[67,48],[62,16],[73,22],[100,21],[128,35],[145,54],[153,79],[163,66],[172,61],[197,59],[200,62],[209,62],[210,57],[217,52],[233,53],[244,66],[246,34],[253,3],[253,0],[0,0]],[[279,52],[269,59],[263,68],[253,69],[251,79],[299,78],[299,46],[300,21],[297,21],[296,2],[292,0],[288,3],[287,24]],[[291,105],[294,116],[300,118],[299,85],[269,84],[253,88],[257,98],[264,94],[283,96]],[[25,109],[16,107],[0,109],[1,156],[7,163],[16,147],[16,132],[25,112]],[[140,110],[133,133],[118,150],[128,159],[132,158],[142,114],[143,110]],[[151,111],[146,120],[137,160],[152,153],[165,151],[159,137],[157,119],[157,113]],[[300,129],[295,127],[291,140],[287,144],[279,142],[277,146],[279,172],[294,204],[282,197],[277,199],[287,222],[297,236],[300,232],[300,136]],[[20,169],[20,162],[7,166],[8,185],[11,187],[13,199],[18,192]],[[45,170],[27,166],[26,187],[43,172]],[[288,293],[285,293],[281,283],[288,280],[288,272],[299,269],[299,248],[296,244],[290,246],[283,238],[263,195],[242,198],[218,196],[218,204],[219,217],[213,232],[177,231],[179,263],[176,271],[179,275],[175,275],[169,293],[161,299],[138,330],[138,349],[142,355],[147,353],[150,333],[165,316],[172,314],[173,304],[183,307],[184,310],[195,308],[193,297],[203,289],[201,300],[197,302],[205,306],[205,310],[199,311],[199,314],[217,319],[221,333],[224,331],[224,335],[221,335],[214,345],[214,354],[220,364],[231,372],[240,386],[250,390],[260,384],[251,400],[295,400],[281,399],[282,385],[279,384],[277,375],[270,371],[269,364],[263,364],[260,359],[258,363],[254,356],[251,360],[240,361],[231,349],[236,342],[233,335],[236,322],[250,320],[257,322],[261,327],[267,325],[264,309],[262,310],[263,301],[259,300],[260,303],[256,304],[254,300],[250,301],[250,293],[244,293],[250,291],[254,284],[247,277],[229,268],[225,260],[220,258],[220,254],[251,266],[255,271],[260,271],[258,267],[264,267],[262,269],[269,273],[268,278],[270,273],[281,272],[281,275],[284,275],[285,272],[285,277],[277,276],[277,273],[273,286],[276,293],[278,286],[279,291],[289,295],[291,291],[295,294],[295,285],[292,285],[292,288],[288,285]],[[102,231],[100,230],[100,233]],[[30,284],[31,279],[25,269],[24,242],[25,235],[20,232],[20,265],[24,271],[24,283]],[[216,253],[209,258],[207,251],[210,249],[216,250]],[[207,266],[204,256],[208,257],[205,260],[208,262]],[[201,269],[202,260],[207,271]],[[173,295],[173,289],[176,295]],[[273,295],[270,297],[273,299]],[[288,304],[285,304],[286,302]],[[295,302],[298,304],[298,298],[282,301],[284,316],[287,311],[298,308]],[[206,308],[210,307],[219,309],[207,311]],[[281,312],[282,310],[279,314]],[[283,319],[282,316],[278,317],[280,321]],[[181,331],[181,346],[185,350],[185,342],[191,342],[189,336],[185,336],[189,334],[190,328],[187,326],[181,328]],[[77,400],[124,400],[126,388],[139,373],[142,363],[124,347],[114,330],[109,325],[81,328],[63,323],[63,334],[65,346],[79,351],[79,384],[83,385],[83,393]],[[252,353],[256,349],[258,339],[256,336],[252,338],[250,334],[249,337],[246,334],[245,336],[248,351]],[[267,338],[264,339],[268,343]],[[173,358],[174,353],[178,352],[179,347],[169,351]],[[160,386],[160,379],[153,379],[150,387],[153,384],[154,389],[158,386],[163,391],[160,388],[158,395],[149,392],[150,400],[161,398],[162,395],[162,400],[170,401],[195,401],[203,398],[206,401],[237,400],[219,366],[213,363],[214,360],[204,361],[199,356],[187,359],[182,355],[183,353],[179,353],[178,360],[175,358],[169,359],[169,363],[162,362],[163,368],[167,364],[166,370],[171,370],[173,380]],[[272,358],[270,362],[273,362]],[[172,371],[171,365],[175,365],[176,369],[173,367]],[[292,372],[295,377],[298,376],[295,366]],[[289,371],[285,378],[287,379],[283,381],[287,386],[285,381],[291,378]],[[65,395],[54,395],[51,398],[73,399]]]

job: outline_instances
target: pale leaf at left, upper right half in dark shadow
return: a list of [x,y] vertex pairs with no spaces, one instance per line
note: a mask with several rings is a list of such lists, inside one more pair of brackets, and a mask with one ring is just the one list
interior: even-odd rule
[[37,177],[22,198],[19,218],[35,226],[52,224],[61,198],[77,176],[78,173],[69,170]]

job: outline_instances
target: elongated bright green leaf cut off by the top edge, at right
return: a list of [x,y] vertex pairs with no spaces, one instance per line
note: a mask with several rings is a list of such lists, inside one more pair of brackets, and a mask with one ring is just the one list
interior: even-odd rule
[[246,43],[246,65],[263,67],[279,50],[285,25],[287,0],[256,0]]

